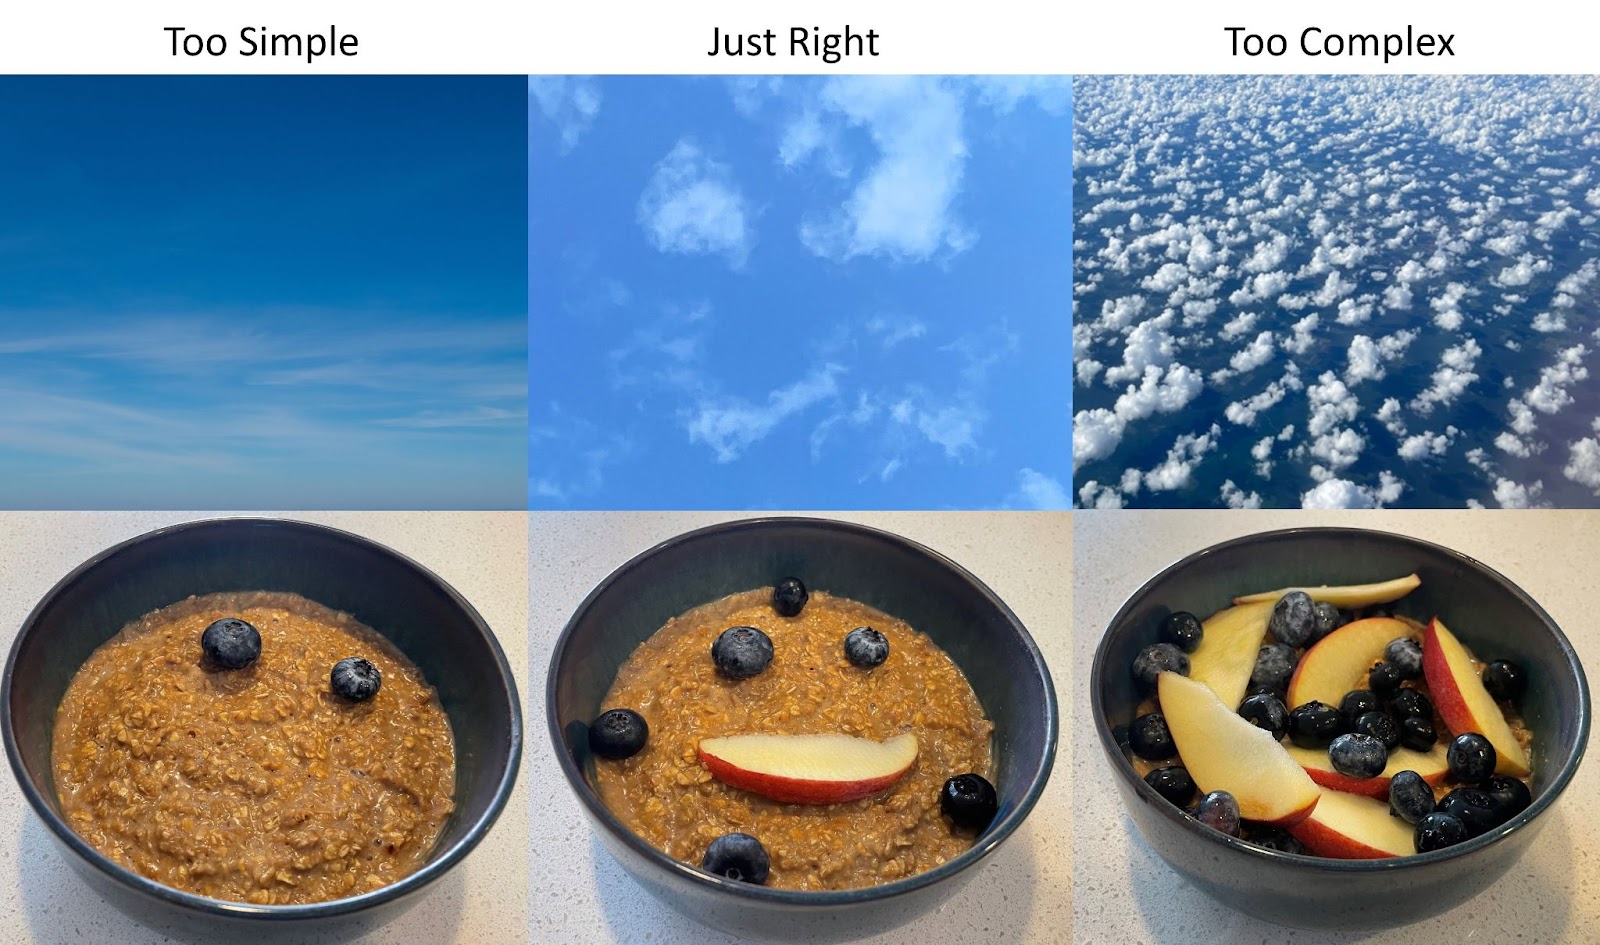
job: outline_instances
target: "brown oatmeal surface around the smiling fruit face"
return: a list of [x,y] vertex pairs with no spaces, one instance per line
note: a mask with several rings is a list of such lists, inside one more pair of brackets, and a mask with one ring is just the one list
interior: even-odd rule
[[[728,627],[773,640],[771,665],[749,680],[720,675],[710,644]],[[872,627],[888,659],[862,670],[845,635]],[[994,726],[950,657],[907,624],[866,604],[813,592],[779,617],[771,588],[736,593],[667,620],[618,672],[602,708],[632,708],[650,724],[645,748],[597,760],[602,799],[658,849],[699,865],[723,833],[750,833],[771,859],[768,886],[856,889],[938,867],[973,844],[939,812],[946,779],[992,779]],[[890,790],[843,804],[779,804],[715,780],[701,739],[742,734],[917,736],[910,772]]]

